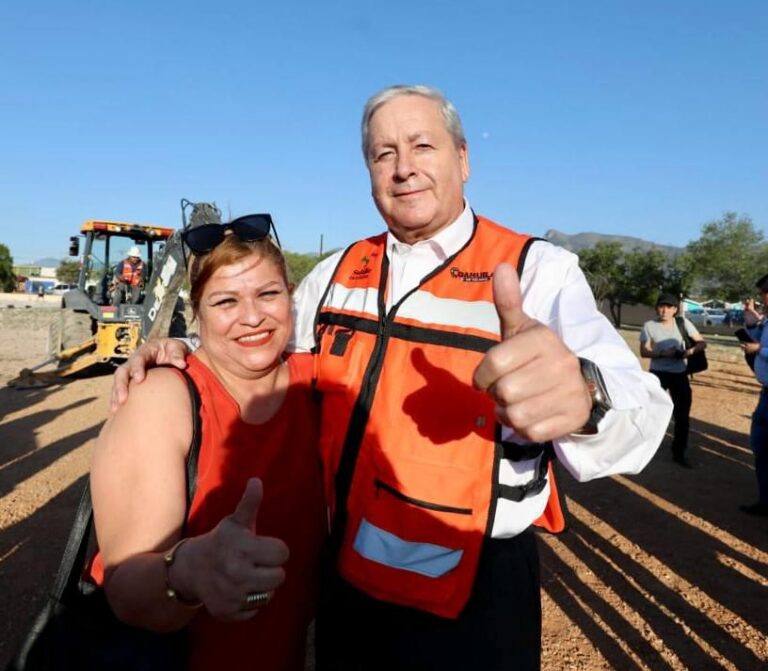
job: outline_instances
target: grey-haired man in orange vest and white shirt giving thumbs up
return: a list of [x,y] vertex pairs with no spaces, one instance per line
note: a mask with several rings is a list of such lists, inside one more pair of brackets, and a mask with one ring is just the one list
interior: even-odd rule
[[[581,481],[637,472],[671,403],[575,255],[470,208],[467,142],[439,91],[371,97],[362,145],[387,230],[295,296],[332,522],[316,668],[538,669],[532,525],[564,524],[549,460]],[[137,351],[115,403],[180,349]]]

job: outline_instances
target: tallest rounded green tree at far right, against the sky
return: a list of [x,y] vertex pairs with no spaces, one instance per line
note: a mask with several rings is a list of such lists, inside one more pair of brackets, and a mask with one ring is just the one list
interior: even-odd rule
[[765,272],[768,248],[761,231],[747,215],[726,212],[702,226],[701,237],[687,252],[702,293],[738,301],[754,293],[755,280]]

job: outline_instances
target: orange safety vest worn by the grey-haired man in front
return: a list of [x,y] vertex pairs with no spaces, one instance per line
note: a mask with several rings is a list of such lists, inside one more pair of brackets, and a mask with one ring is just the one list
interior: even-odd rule
[[[472,386],[500,340],[494,268],[507,261],[519,273],[532,240],[477,217],[464,248],[387,313],[379,235],[346,250],[320,301],[316,385],[332,547],[340,574],[379,600],[458,617],[500,498],[549,488],[534,523],[564,528],[551,445],[502,442],[493,401]],[[499,483],[501,459],[537,456],[530,482]]]

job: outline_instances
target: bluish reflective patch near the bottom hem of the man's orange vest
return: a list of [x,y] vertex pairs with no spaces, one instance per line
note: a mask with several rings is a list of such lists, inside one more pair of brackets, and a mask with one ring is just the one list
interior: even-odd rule
[[464,550],[434,543],[414,543],[380,529],[363,518],[357,530],[355,551],[371,561],[428,578],[439,578],[455,569]]

